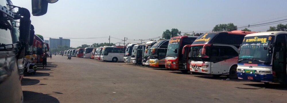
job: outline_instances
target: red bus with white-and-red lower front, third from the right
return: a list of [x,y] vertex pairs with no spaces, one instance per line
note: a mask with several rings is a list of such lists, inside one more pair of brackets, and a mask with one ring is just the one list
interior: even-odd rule
[[183,65],[186,63],[186,60],[183,59],[182,49],[183,46],[192,44],[196,38],[197,36],[177,36],[170,38],[166,52],[165,68],[187,72],[188,70]]

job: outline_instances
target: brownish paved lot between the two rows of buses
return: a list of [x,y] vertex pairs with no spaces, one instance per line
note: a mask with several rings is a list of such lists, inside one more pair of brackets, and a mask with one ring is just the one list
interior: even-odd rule
[[[54,56],[46,69],[22,80],[24,102],[30,103],[191,103],[286,102],[278,84],[226,80],[94,59]],[[39,68],[41,68],[39,66]]]

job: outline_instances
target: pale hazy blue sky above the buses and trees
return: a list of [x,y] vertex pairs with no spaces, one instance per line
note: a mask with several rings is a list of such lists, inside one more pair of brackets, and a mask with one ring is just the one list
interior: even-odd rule
[[[31,11],[31,1],[12,2]],[[45,39],[147,39],[171,28],[182,32],[212,30],[216,24],[234,23],[239,27],[287,16],[286,4],[286,0],[59,0],[48,5],[45,15],[32,16],[31,20],[36,34]],[[276,20],[282,19],[287,17]],[[276,25],[249,29],[264,31]],[[71,39],[71,46],[101,42],[108,42],[108,38]],[[111,42],[121,40],[111,38]]]

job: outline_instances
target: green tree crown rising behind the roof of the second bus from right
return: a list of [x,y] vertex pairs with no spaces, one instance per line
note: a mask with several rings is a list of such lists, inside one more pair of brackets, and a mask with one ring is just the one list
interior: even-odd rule
[[235,26],[233,23],[228,23],[228,24],[217,24],[215,25],[212,31],[220,32],[220,31],[233,31],[233,30],[237,30],[237,26]]

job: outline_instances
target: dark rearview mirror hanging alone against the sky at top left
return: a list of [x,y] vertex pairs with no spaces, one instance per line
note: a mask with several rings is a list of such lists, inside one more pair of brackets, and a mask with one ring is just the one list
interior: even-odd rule
[[32,14],[41,16],[47,13],[48,2],[46,0],[32,0]]

